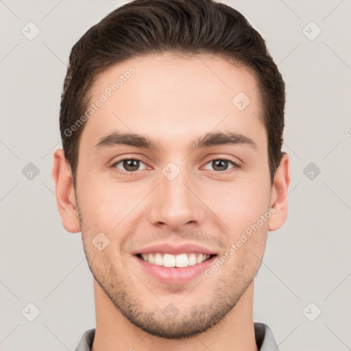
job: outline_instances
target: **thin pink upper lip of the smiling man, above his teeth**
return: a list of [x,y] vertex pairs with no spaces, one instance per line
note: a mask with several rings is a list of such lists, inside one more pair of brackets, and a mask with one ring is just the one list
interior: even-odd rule
[[143,247],[143,249],[132,252],[132,254],[152,254],[156,252],[162,252],[165,254],[188,254],[191,252],[198,252],[200,254],[214,255],[217,254],[215,250],[208,247],[204,247],[195,243],[158,243]]

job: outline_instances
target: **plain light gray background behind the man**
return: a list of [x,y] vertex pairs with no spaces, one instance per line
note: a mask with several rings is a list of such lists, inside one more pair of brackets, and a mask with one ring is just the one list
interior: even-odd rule
[[[93,278],[80,233],[61,226],[51,165],[71,47],[121,3],[0,1],[0,350],[74,350],[95,326]],[[269,233],[254,320],[281,351],[351,350],[351,2],[223,3],[261,32],[287,83],[289,218]]]

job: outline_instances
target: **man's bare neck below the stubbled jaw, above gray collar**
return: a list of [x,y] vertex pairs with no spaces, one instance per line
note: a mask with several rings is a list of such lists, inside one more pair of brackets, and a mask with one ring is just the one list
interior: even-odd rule
[[254,282],[221,322],[187,339],[163,339],[134,326],[94,280],[96,330],[92,351],[258,351],[254,335]]

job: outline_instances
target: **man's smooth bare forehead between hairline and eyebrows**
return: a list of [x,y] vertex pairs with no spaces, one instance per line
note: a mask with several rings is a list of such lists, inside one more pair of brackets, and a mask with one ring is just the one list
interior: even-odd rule
[[257,84],[247,66],[218,56],[133,58],[95,80],[90,89],[95,107],[82,138],[93,142],[119,131],[179,143],[194,134],[228,130],[264,138]]

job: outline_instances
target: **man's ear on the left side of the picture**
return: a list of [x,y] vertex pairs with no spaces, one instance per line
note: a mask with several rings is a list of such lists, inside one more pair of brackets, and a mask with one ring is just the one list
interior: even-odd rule
[[71,233],[80,232],[71,167],[62,149],[57,149],[53,154],[52,178],[62,226]]

